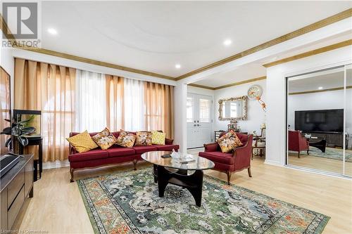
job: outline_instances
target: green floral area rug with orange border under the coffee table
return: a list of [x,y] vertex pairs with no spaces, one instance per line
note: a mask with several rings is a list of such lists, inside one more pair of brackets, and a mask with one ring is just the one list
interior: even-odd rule
[[329,217],[210,176],[201,207],[168,185],[158,197],[152,168],[77,181],[95,233],[322,233]]

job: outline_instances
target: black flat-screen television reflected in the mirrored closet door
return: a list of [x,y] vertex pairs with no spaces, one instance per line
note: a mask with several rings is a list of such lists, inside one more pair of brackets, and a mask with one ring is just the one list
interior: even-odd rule
[[342,133],[344,109],[296,110],[294,128],[308,133]]

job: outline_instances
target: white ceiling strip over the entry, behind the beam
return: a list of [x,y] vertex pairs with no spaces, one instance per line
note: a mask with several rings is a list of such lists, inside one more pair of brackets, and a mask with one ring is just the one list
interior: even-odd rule
[[279,53],[270,58],[265,58],[263,60],[258,60],[255,63],[248,63],[246,65],[241,65],[234,70],[230,70],[228,72],[222,72],[217,74],[212,74],[208,77],[205,77],[199,82],[194,82],[194,84],[199,84],[202,86],[208,86],[211,88],[223,86],[226,84],[232,84],[235,82],[241,82],[247,79],[253,79],[257,77],[263,77],[266,75],[266,69],[263,67],[265,63],[270,63],[276,60],[280,60],[282,58],[288,58],[291,56],[295,56],[299,53],[304,53],[306,51],[312,51],[316,48],[322,48],[324,46],[329,46],[332,44],[337,44],[341,41],[346,41],[348,39],[352,39],[352,31],[346,32],[344,34],[339,34],[336,37],[331,37],[324,39],[322,41],[318,41],[314,44],[303,46],[296,48],[291,51],[284,51],[283,53]]

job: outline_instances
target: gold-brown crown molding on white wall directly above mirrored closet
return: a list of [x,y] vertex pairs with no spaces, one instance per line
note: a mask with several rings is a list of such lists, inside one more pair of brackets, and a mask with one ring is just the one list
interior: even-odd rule
[[309,57],[309,56],[315,56],[315,55],[317,55],[319,53],[325,53],[327,51],[332,51],[332,50],[337,49],[337,48],[342,48],[342,47],[351,46],[351,45],[352,45],[352,39],[349,39],[347,41],[341,41],[341,42],[339,42],[337,44],[332,44],[330,46],[317,48],[317,49],[315,49],[313,51],[308,51],[308,52],[305,52],[305,53],[299,53],[296,56],[291,56],[291,57],[283,58],[283,59],[280,59],[280,60],[277,60],[277,61],[274,61],[274,62],[271,62],[271,63],[266,63],[263,66],[264,67],[272,67],[272,66],[279,65],[279,64],[282,64],[282,63],[288,63],[288,62],[291,62],[293,60],[298,60],[298,59],[306,58],[306,57]]

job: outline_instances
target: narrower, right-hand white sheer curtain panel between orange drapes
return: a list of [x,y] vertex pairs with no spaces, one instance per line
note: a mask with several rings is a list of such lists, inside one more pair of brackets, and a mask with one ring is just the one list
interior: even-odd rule
[[124,79],[125,130],[144,130],[144,82]]

